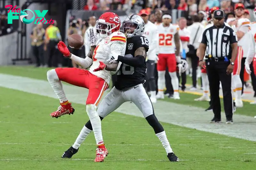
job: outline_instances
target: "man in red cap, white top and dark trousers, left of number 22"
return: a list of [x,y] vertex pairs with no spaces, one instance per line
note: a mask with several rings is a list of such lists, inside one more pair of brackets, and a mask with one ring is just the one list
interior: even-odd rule
[[155,62],[156,62],[156,48],[158,46],[158,33],[157,26],[148,20],[148,10],[140,10],[140,17],[145,22],[145,30],[143,36],[148,38],[148,44],[151,48],[147,52],[147,81],[148,81],[148,92],[150,94],[150,100],[152,103],[156,103],[156,80],[155,80]]

